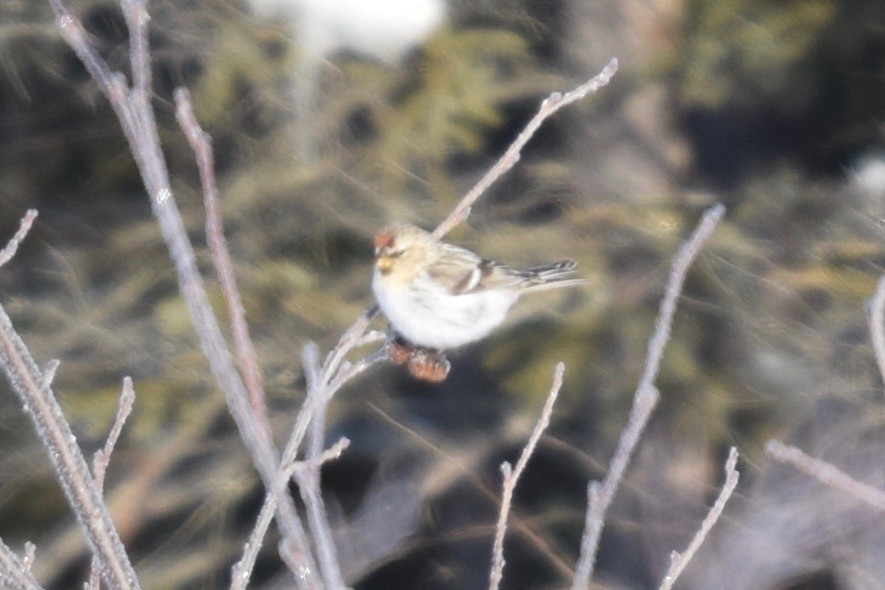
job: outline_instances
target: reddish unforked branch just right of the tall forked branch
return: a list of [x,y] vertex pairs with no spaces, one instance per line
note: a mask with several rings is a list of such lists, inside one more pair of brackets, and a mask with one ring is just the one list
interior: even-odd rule
[[264,386],[261,383],[261,367],[258,363],[258,353],[255,344],[249,336],[249,325],[246,323],[246,311],[237,288],[234,263],[231,260],[227,248],[227,240],[224,237],[224,223],[221,218],[221,208],[218,204],[218,183],[215,179],[215,156],[212,149],[212,138],[204,132],[197,118],[194,116],[194,107],[191,102],[190,92],[187,88],[175,90],[175,117],[178,125],[187,137],[197,160],[197,168],[200,172],[200,183],[203,186],[203,206],[206,210],[206,242],[212,255],[212,264],[218,274],[218,282],[221,292],[227,302],[227,310],[230,315],[231,333],[233,334],[234,350],[237,355],[237,364],[245,381],[246,390],[249,392],[249,400],[252,411],[258,425],[265,430],[270,430],[270,422],[267,416],[265,404]]

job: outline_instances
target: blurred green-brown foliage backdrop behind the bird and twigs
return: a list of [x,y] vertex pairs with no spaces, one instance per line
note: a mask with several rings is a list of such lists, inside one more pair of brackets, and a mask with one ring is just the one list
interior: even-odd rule
[[[127,71],[119,7],[74,6]],[[214,138],[278,441],[304,395],[300,347],[327,349],[372,303],[373,233],[434,227],[544,97],[620,60],[449,236],[517,267],[575,258],[588,286],[522,301],[451,355],[440,385],[383,365],[333,401],[329,439],[352,444],[324,490],[355,588],[486,587],[498,466],[518,456],[558,360],[565,384],[516,490],[503,587],[570,584],[586,484],[626,424],[670,261],[717,202],[728,213],[680,300],[597,587],[657,586],[735,445],[741,485],[681,587],[885,588],[885,515],[762,452],[779,438],[885,488],[865,309],[885,272],[885,3],[155,0],[150,12],[176,198],[223,318],[172,112],[186,85]],[[143,586],[227,587],[263,496],[255,470],[118,123],[48,5],[5,0],[0,242],[31,207],[40,217],[0,271],[0,300],[39,363],[61,359],[56,391],[87,453],[133,377],[106,490]],[[0,448],[0,535],[37,544],[47,588],[81,587],[79,529],[5,380]],[[285,579],[276,538],[256,587]]]

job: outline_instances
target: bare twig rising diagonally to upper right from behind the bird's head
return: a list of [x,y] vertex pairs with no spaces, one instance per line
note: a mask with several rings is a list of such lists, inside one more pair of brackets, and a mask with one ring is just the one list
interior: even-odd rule
[[446,217],[442,223],[440,223],[435,230],[433,230],[433,237],[437,240],[445,236],[447,233],[452,231],[452,229],[467,219],[467,216],[470,215],[470,208],[473,207],[473,204],[479,199],[480,196],[494,183],[498,178],[507,173],[513,166],[519,162],[519,158],[522,152],[522,148],[525,147],[525,144],[529,142],[535,132],[541,127],[541,124],[549,117],[554,114],[556,111],[561,109],[564,106],[570,105],[573,102],[577,102],[587,96],[588,94],[595,93],[600,88],[609,83],[612,79],[612,76],[615,75],[615,72],[618,71],[618,60],[612,59],[608,62],[601,72],[599,72],[596,76],[588,80],[587,82],[581,84],[577,88],[562,94],[560,92],[554,92],[550,96],[548,96],[542,103],[541,107],[538,109],[538,112],[534,117],[526,124],[520,134],[516,137],[513,143],[507,148],[507,151],[504,152],[504,155],[495,163],[494,166],[489,168],[489,171],[485,173],[485,175],[479,180],[479,182],[474,185],[470,191],[467,192],[466,195],[461,199],[461,201],[455,206],[449,216]]

